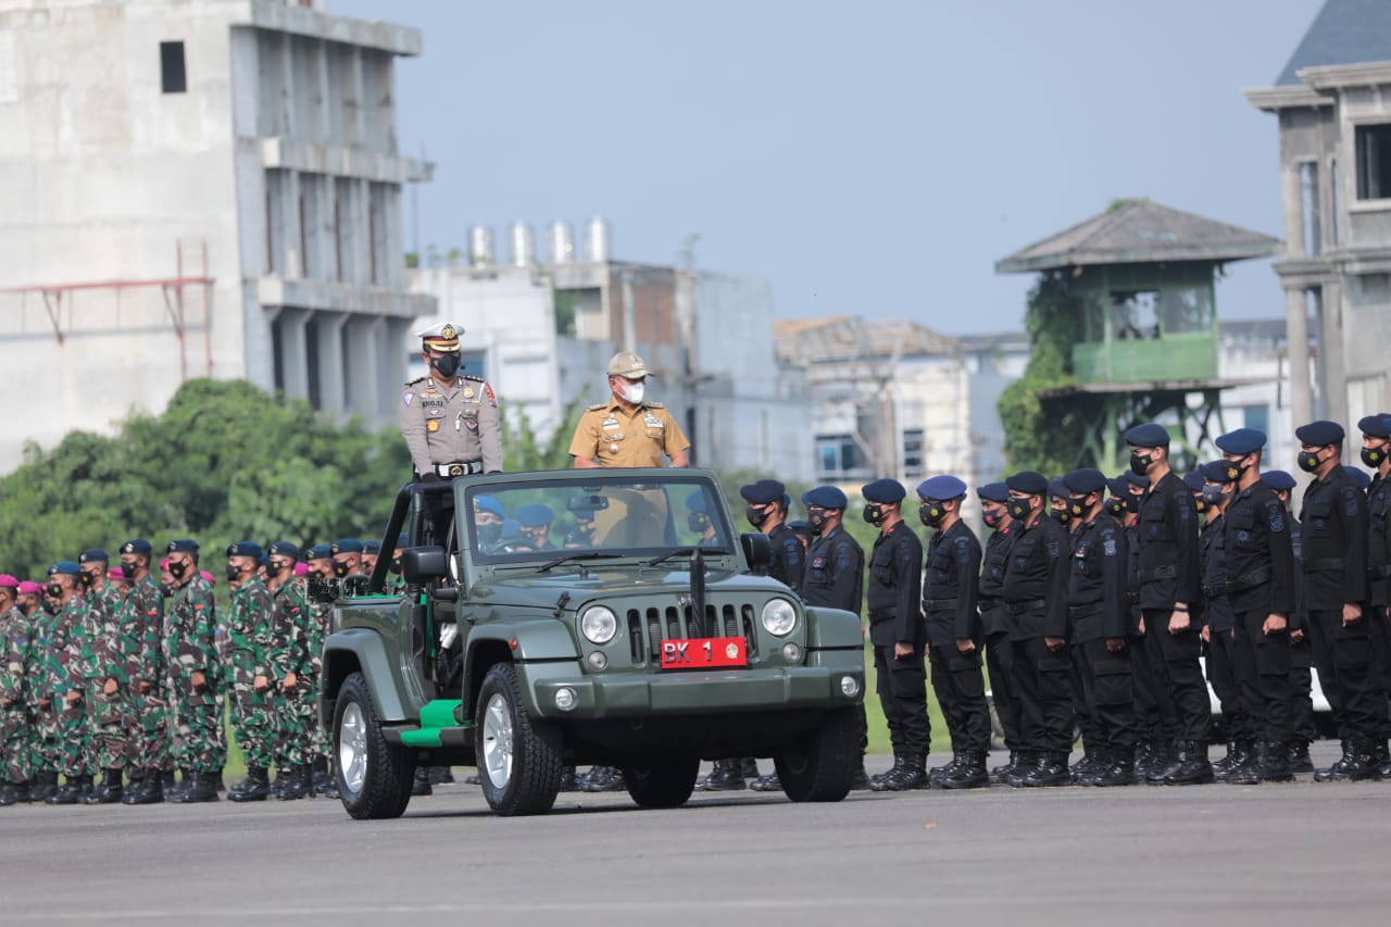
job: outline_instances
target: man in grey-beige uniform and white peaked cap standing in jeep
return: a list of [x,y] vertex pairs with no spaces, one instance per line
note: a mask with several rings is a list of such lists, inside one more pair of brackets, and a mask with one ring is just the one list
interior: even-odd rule
[[462,333],[448,322],[419,333],[430,374],[412,380],[401,394],[401,437],[421,483],[502,472],[502,430],[492,387],[481,377],[458,376]]

